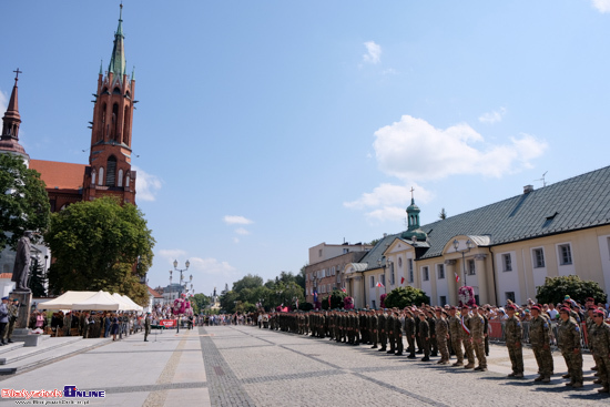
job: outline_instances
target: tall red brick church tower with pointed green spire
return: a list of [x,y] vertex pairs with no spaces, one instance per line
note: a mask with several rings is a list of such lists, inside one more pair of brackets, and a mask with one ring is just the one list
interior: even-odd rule
[[135,203],[135,171],[131,170],[131,131],[135,79],[126,73],[123,45],[123,4],[108,71],[100,65],[91,122],[89,166],[83,180],[83,200],[112,195]]

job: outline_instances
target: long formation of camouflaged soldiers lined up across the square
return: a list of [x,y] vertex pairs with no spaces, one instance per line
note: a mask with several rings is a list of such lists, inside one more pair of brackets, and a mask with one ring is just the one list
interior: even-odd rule
[[[557,309],[559,308],[559,309]],[[587,311],[584,311],[587,309]],[[556,311],[556,312],[553,312]],[[370,345],[378,352],[407,358],[421,356],[421,362],[439,356],[437,364],[487,370],[491,320],[498,319],[511,360],[510,378],[523,378],[522,348],[531,346],[539,367],[536,383],[547,384],[553,375],[551,346],[555,343],[568,366],[563,378],[567,386],[582,387],[582,350],[588,348],[596,362],[600,393],[610,393],[610,325],[608,307],[587,298],[584,305],[569,296],[559,306],[528,301],[518,306],[509,302],[505,307],[485,306],[409,306],[404,309],[332,309],[311,312],[257,313],[260,328],[283,330],[298,335],[329,338],[349,345]],[[523,332],[528,322],[527,338]],[[552,325],[557,332],[553,335]],[[496,324],[494,324],[496,325]],[[406,347],[403,338],[406,339]],[[455,362],[451,364],[451,355]]]

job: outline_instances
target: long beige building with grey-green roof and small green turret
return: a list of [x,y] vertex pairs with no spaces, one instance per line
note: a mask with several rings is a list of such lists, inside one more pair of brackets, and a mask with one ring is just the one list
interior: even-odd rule
[[522,304],[546,277],[567,275],[610,292],[610,167],[536,191],[528,185],[424,226],[419,211],[411,200],[408,230],[384,236],[343,269],[356,307],[378,307],[382,294],[407,285],[433,305],[457,304],[461,285],[474,288],[477,304]]

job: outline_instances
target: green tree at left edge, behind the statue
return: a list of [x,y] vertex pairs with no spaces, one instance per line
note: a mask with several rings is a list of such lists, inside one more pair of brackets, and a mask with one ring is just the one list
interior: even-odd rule
[[44,182],[20,156],[0,154],[0,252],[7,245],[16,250],[26,231],[47,230],[51,206]]

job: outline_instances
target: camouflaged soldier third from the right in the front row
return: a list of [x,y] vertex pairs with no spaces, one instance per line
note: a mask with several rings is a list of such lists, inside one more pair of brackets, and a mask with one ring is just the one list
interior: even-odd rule
[[529,322],[529,342],[536,362],[538,363],[539,376],[533,381],[550,383],[553,364],[550,348],[550,324],[541,315],[539,305],[531,307],[531,320]]

